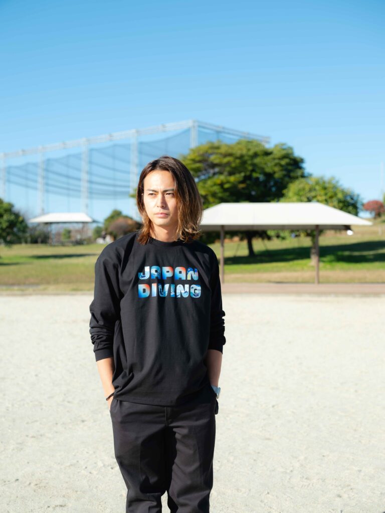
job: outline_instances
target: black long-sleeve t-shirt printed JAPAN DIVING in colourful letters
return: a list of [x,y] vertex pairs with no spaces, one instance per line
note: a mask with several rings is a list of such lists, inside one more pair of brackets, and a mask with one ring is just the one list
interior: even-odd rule
[[114,359],[114,397],[174,406],[208,383],[207,350],[223,352],[218,260],[199,241],[137,238],[108,244],[95,263],[91,342],[96,361]]

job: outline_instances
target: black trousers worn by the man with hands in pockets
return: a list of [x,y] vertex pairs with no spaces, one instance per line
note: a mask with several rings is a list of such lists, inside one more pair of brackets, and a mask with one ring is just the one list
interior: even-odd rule
[[210,384],[181,406],[113,398],[115,458],[127,486],[126,513],[208,513],[213,488],[216,393]]

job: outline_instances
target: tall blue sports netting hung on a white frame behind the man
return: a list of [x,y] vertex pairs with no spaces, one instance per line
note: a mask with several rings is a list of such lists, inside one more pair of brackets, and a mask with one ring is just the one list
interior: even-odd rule
[[130,194],[136,192],[140,172],[149,161],[161,155],[180,158],[192,146],[208,141],[234,143],[242,137],[268,141],[199,122],[189,125],[179,130],[167,130],[162,125],[163,133],[137,131],[120,141],[103,141],[101,136],[101,141],[84,140],[78,147],[65,148],[66,143],[62,143],[58,148],[40,147],[40,151],[25,155],[23,150],[4,153],[2,198],[13,203],[27,220],[48,212],[84,212],[102,221],[113,209],[139,220]]

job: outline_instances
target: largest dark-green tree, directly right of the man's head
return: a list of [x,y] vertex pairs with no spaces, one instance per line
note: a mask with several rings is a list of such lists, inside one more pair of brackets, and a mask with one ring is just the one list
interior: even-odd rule
[[[195,177],[204,208],[218,203],[278,201],[288,184],[307,176],[302,157],[282,143],[266,148],[256,140],[208,142],[190,149],[180,160]],[[250,256],[256,235],[268,238],[266,232],[246,231]]]

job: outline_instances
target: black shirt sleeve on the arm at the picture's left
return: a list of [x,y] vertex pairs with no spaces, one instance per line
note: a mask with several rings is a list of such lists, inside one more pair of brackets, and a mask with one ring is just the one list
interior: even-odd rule
[[102,253],[95,262],[89,332],[95,359],[113,358],[115,323],[120,319],[119,265]]

